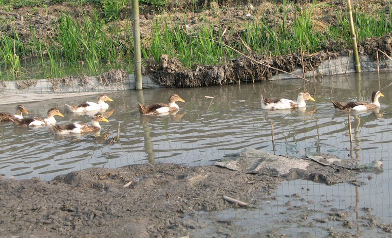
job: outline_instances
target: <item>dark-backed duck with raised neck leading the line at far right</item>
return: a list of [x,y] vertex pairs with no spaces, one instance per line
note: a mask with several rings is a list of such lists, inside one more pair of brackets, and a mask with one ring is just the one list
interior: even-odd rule
[[336,109],[341,111],[365,111],[368,109],[376,109],[381,106],[380,97],[385,97],[380,90],[374,90],[371,94],[371,103],[369,102],[338,102],[331,101]]

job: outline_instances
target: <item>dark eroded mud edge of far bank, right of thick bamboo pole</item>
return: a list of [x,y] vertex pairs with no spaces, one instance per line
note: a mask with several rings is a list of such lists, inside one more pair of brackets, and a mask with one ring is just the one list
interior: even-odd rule
[[[391,35],[378,39],[367,39],[359,45],[362,71],[390,69],[392,54]],[[278,74],[292,73],[294,78],[322,77],[323,75],[346,74],[353,70],[352,50],[322,50],[316,53],[298,52],[285,56],[248,54],[237,59],[227,60],[221,65],[197,65],[194,69],[185,68],[176,58],[161,56],[161,62],[150,59],[144,68],[145,74],[157,84],[165,87],[200,87],[225,85],[241,81],[264,82]],[[345,61],[334,61],[347,57]],[[328,66],[322,66],[326,63]],[[332,71],[330,71],[332,70]],[[351,70],[351,71],[350,71]],[[310,72],[310,74],[307,74]]]

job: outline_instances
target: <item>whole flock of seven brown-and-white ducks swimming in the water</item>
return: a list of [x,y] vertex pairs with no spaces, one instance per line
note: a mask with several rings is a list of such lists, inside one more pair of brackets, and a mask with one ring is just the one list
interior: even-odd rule
[[[297,101],[289,99],[272,99],[265,98],[262,96],[262,109],[265,110],[276,110],[276,109],[291,109],[291,108],[301,108],[305,107],[306,100],[315,101],[309,93],[298,94]],[[339,102],[331,101],[333,106],[341,111],[365,111],[368,109],[379,108],[380,102],[379,98],[384,97],[380,90],[373,91],[371,95],[371,102]],[[65,108],[70,113],[86,113],[94,111],[104,111],[109,108],[106,101],[113,101],[107,95],[101,95],[98,97],[98,102],[85,102],[79,105],[68,105],[65,104]],[[169,98],[169,103],[154,103],[151,105],[143,105],[139,102],[139,112],[141,115],[156,115],[176,112],[179,106],[176,102],[185,102],[178,95],[173,94]],[[108,120],[102,115],[102,113],[97,113],[91,118],[91,124],[73,122],[69,124],[56,125],[55,116],[64,117],[64,115],[59,111],[58,108],[50,108],[47,113],[47,118],[38,117],[23,117],[23,114],[28,114],[28,111],[23,105],[16,106],[16,113],[11,115],[10,113],[0,113],[0,121],[13,122],[15,126],[52,126],[55,134],[82,134],[82,133],[93,133],[101,130],[100,122],[108,122]]]

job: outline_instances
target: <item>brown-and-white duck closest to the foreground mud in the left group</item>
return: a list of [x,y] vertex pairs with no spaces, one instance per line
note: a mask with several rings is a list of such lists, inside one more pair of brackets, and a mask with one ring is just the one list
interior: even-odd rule
[[73,122],[66,125],[52,125],[52,128],[54,133],[58,135],[92,133],[101,130],[101,125],[99,124],[101,121],[108,122],[101,113],[97,113],[91,118],[91,125]]

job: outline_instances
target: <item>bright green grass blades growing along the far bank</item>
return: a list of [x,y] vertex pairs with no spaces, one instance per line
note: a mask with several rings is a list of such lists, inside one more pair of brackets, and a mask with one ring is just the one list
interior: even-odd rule
[[[22,66],[21,59],[35,59],[38,63],[36,74],[43,77],[58,78],[72,74],[97,75],[111,68],[133,70],[132,25],[112,24],[120,20],[122,11],[129,7],[129,0],[80,0],[80,1],[5,1],[0,0],[0,10],[9,11],[21,6],[46,7],[55,2],[73,3],[82,7],[92,3],[97,10],[92,15],[84,15],[83,24],[64,13],[55,23],[53,39],[40,39],[34,26],[30,27],[32,40],[23,43],[17,33],[0,35],[0,78],[17,79],[30,75],[30,68]],[[145,0],[141,3],[164,8],[167,0]],[[142,57],[160,61],[162,54],[177,58],[185,67],[195,65],[221,64],[225,60],[239,56],[237,52],[219,43],[237,49],[245,54],[256,53],[264,56],[281,56],[293,52],[318,52],[320,50],[339,50],[350,48],[351,36],[344,9],[335,9],[339,20],[337,25],[316,29],[314,11],[331,7],[313,1],[310,9],[301,8],[292,2],[283,1],[281,8],[276,8],[276,15],[281,16],[281,23],[271,25],[266,18],[250,18],[236,31],[238,24],[234,20],[229,29],[220,26],[227,22],[210,23],[206,17],[199,17],[202,24],[192,31],[186,30],[186,22],[173,21],[170,17],[157,19],[153,33],[144,40],[150,41],[142,48]],[[195,6],[191,7],[196,8]],[[386,8],[385,8],[386,9]],[[376,38],[392,32],[390,15],[380,9],[375,15],[353,12],[358,42],[366,38]],[[294,15],[294,18],[289,17]],[[186,20],[186,16],[183,17]],[[0,24],[9,22],[0,19]],[[293,21],[293,22],[292,22]],[[197,24],[196,24],[197,25]],[[290,25],[290,26],[288,26]],[[194,25],[195,26],[195,25]],[[16,32],[16,31],[15,31]],[[227,37],[230,35],[229,37]],[[142,40],[143,41],[143,40]],[[331,44],[331,42],[333,44]],[[331,48],[332,47],[332,48]],[[335,47],[335,48],[334,48]],[[35,67],[34,67],[35,68]]]

